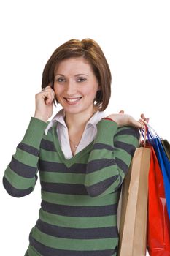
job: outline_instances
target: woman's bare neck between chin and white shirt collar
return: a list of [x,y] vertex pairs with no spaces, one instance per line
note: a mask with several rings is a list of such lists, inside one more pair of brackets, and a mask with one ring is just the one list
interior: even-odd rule
[[75,128],[83,129],[87,124],[88,120],[93,116],[93,114],[98,110],[98,108],[91,108],[91,110],[85,111],[83,113],[66,113],[65,122],[69,130],[75,130]]

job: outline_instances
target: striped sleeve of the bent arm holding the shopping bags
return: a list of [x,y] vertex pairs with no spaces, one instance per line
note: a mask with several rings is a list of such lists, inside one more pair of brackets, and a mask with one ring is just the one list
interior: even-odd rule
[[138,146],[138,129],[117,127],[114,121],[101,119],[86,169],[88,195],[103,197],[115,192],[123,183]]

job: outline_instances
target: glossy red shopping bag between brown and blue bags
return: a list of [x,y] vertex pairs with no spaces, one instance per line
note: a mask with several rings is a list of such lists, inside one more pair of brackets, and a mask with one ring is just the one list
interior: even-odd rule
[[147,249],[150,256],[170,256],[170,221],[163,176],[152,146],[149,171]]

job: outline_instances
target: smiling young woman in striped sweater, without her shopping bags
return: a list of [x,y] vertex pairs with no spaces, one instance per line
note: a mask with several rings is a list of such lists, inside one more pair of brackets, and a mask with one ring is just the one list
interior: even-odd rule
[[[23,197],[39,170],[42,204],[27,256],[117,255],[117,203],[141,124],[123,111],[105,115],[110,85],[92,39],[69,40],[47,61],[34,117],[3,179],[10,195]],[[53,103],[63,108],[47,122]]]

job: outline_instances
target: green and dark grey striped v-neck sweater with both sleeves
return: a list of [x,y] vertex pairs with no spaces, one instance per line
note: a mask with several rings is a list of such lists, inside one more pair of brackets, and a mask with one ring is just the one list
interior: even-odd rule
[[29,256],[117,255],[117,203],[139,131],[101,119],[96,138],[71,159],[64,157],[56,126],[31,118],[26,134],[5,170],[9,195],[42,187],[39,219],[29,236]]

